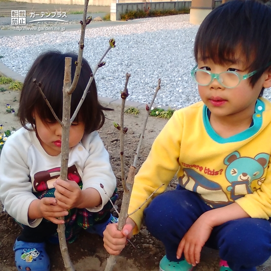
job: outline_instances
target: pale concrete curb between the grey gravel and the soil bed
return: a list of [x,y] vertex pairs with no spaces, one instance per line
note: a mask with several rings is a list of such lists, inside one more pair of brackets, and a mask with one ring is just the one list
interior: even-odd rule
[[[20,75],[19,73],[13,71],[12,69],[6,67],[2,62],[0,62],[0,74],[10,77],[15,81],[20,81],[24,82],[25,77]],[[102,97],[99,96],[99,101],[105,104],[113,104],[113,105],[121,105],[122,99],[116,99],[116,98],[108,98],[108,97]],[[146,103],[144,102],[134,102],[134,101],[129,101],[127,100],[125,102],[125,107],[136,107],[138,109],[145,109]],[[156,107],[156,104],[153,104],[153,107]],[[161,108],[168,110],[170,107],[169,106],[161,106]],[[172,108],[171,108],[172,109]],[[177,109],[177,108],[175,108]]]

